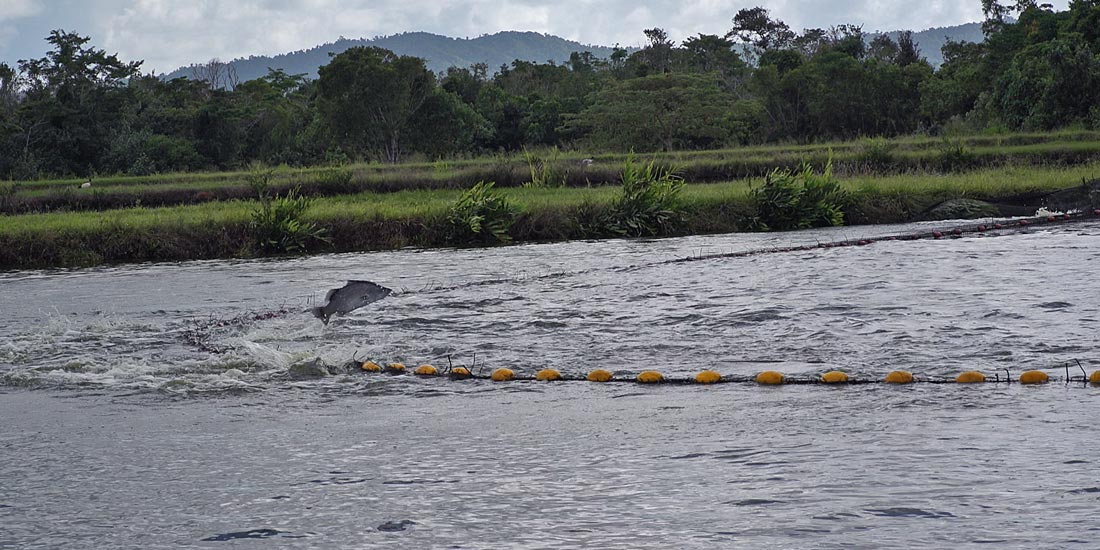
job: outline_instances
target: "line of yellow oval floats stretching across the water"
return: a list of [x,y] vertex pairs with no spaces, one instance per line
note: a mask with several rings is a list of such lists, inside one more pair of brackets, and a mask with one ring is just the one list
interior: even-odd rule
[[[358,370],[365,374],[388,374],[388,375],[411,375],[418,377],[443,377],[455,381],[481,380],[492,382],[592,382],[597,384],[606,383],[630,383],[630,384],[680,384],[680,385],[712,385],[712,384],[756,384],[760,386],[781,385],[857,385],[857,384],[1022,384],[1040,385],[1053,382],[1065,384],[1088,384],[1100,386],[1100,371],[1088,374],[1080,361],[1063,363],[1055,367],[1045,370],[1024,371],[1015,376],[1008,369],[990,371],[989,374],[981,371],[964,371],[954,377],[944,376],[916,376],[909,371],[891,371],[880,378],[857,378],[849,376],[843,371],[828,371],[822,374],[787,376],[778,371],[763,371],[755,375],[722,374],[716,371],[702,371],[693,376],[666,376],[659,371],[642,371],[637,374],[614,373],[604,369],[590,371],[584,375],[563,374],[554,369],[542,369],[535,374],[517,373],[512,369],[494,369],[485,373],[484,370],[474,372],[473,367],[449,366],[437,369],[429,364],[422,364],[415,369],[406,367],[403,363],[388,363],[383,365],[374,361],[353,361],[349,370]],[[1053,376],[1046,371],[1064,370],[1065,376]],[[1076,375],[1071,370],[1080,370],[1081,374]]]

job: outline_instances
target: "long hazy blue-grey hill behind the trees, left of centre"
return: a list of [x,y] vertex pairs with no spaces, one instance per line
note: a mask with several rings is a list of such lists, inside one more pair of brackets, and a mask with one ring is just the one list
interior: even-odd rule
[[[573,52],[592,52],[596,57],[603,58],[610,56],[613,52],[609,46],[592,46],[535,32],[506,31],[476,38],[451,38],[439,34],[411,32],[371,40],[341,37],[332,44],[309,50],[272,57],[252,56],[246,59],[233,59],[231,63],[242,82],[266,76],[267,67],[280,68],[292,75],[306,74],[309,78],[317,78],[317,68],[329,63],[329,54],[340,54],[356,46],[378,46],[398,55],[421,57],[428,62],[428,68],[436,73],[446,72],[448,67],[469,67],[475,63],[485,63],[490,73],[495,73],[501,65],[510,65],[515,59],[565,63]],[[180,76],[190,77],[190,67],[178,68],[166,75],[166,78]]]

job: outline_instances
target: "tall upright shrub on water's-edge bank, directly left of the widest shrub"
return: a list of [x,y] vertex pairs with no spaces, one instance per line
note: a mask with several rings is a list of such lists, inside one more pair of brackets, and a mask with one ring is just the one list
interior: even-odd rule
[[670,233],[683,220],[679,200],[683,186],[672,168],[657,166],[656,161],[636,163],[634,153],[627,155],[623,194],[610,206],[608,231],[626,237]]

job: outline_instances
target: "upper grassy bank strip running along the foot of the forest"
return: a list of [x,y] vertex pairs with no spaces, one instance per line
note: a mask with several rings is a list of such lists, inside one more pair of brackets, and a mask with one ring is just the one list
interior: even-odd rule
[[[582,160],[591,160],[591,163]],[[647,155],[674,167],[691,183],[762,177],[777,167],[809,162],[822,168],[832,160],[842,177],[897,174],[959,174],[1007,166],[1074,166],[1100,161],[1100,132],[977,135],[957,139],[904,138],[812,145],[770,145],[736,150]],[[566,187],[615,185],[625,155],[583,152],[531,152],[465,161],[402,165],[280,168],[271,179],[274,193],[299,188],[310,197],[424,189],[465,189],[477,182],[497,188],[520,187],[540,177]],[[541,168],[538,168],[541,166]],[[42,182],[0,182],[0,215],[111,210],[248,200],[255,197],[250,173],[164,174]]]

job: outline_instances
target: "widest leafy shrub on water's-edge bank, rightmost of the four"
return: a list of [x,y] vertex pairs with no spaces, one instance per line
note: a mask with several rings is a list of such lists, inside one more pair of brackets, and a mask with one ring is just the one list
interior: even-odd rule
[[820,228],[844,224],[848,196],[833,177],[833,163],[823,174],[802,163],[798,170],[776,168],[763,186],[752,189],[757,206],[755,226],[763,231]]

